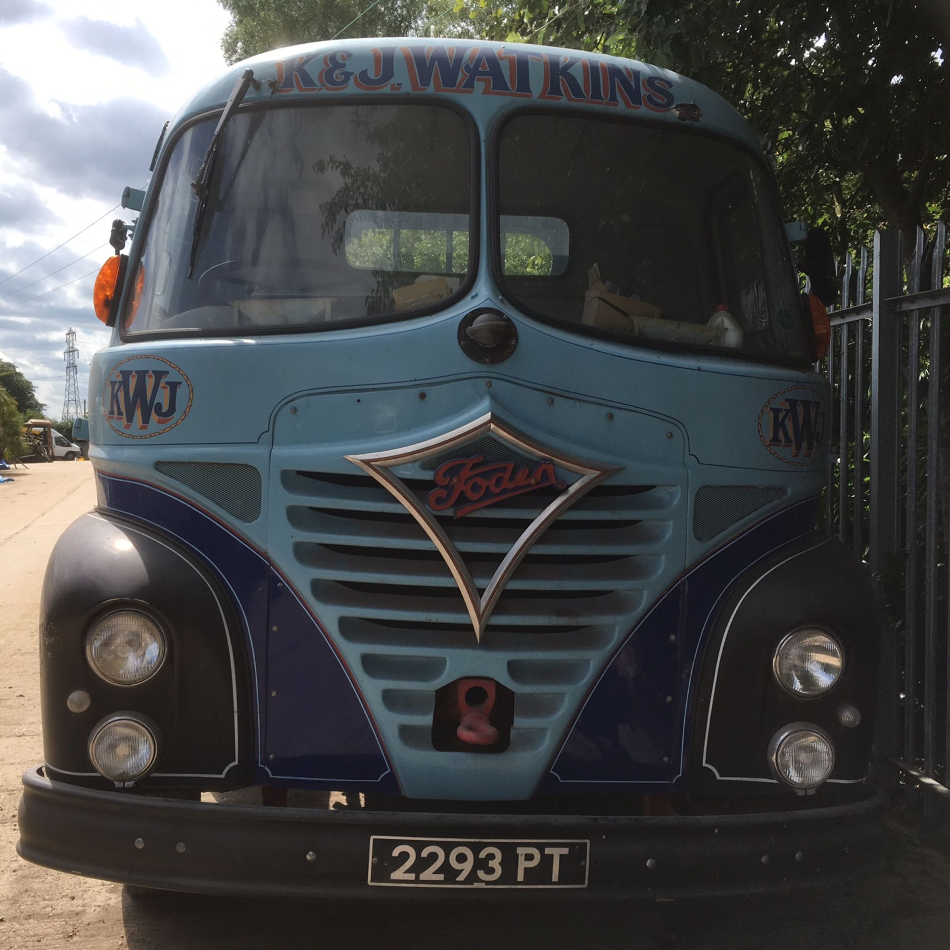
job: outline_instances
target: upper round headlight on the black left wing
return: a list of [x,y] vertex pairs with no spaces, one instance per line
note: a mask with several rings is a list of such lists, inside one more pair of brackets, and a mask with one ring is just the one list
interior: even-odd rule
[[159,625],[137,610],[106,614],[85,638],[89,665],[117,686],[134,686],[155,675],[165,649]]

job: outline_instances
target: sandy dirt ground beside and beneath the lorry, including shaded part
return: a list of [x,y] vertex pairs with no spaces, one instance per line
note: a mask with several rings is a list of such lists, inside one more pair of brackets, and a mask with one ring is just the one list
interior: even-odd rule
[[7,474],[15,482],[0,485],[0,950],[890,950],[950,943],[950,861],[926,843],[926,831],[901,819],[891,823],[886,869],[863,885],[793,899],[635,905],[610,913],[592,906],[486,913],[178,895],[136,900],[118,884],[27,864],[14,845],[20,774],[43,758],[40,586],[54,542],[95,504],[95,490],[83,462]]

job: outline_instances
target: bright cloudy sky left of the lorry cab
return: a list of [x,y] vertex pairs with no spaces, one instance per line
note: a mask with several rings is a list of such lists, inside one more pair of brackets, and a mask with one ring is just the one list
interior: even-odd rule
[[92,285],[112,219],[136,216],[110,209],[125,185],[148,180],[165,120],[225,68],[227,23],[216,0],[0,0],[0,359],[35,384],[52,419],[66,330],[81,399],[108,342]]

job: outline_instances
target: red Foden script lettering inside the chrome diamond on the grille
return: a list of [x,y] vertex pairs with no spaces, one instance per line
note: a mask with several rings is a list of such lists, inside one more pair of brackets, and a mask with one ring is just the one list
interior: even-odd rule
[[447,511],[462,501],[464,504],[455,509],[455,517],[461,518],[488,504],[546,485],[567,487],[555,474],[554,463],[549,459],[539,462],[534,471],[528,466],[516,470],[514,462],[480,465],[483,462],[485,456],[474,455],[470,459],[453,459],[439,466],[435,473],[435,484],[439,487],[428,493],[428,506],[433,511]]

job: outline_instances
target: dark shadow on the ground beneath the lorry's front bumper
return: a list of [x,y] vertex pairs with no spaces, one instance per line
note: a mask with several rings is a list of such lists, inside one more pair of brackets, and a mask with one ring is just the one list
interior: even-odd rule
[[125,893],[123,918],[129,950],[937,947],[950,944],[950,860],[927,844],[925,829],[896,820],[883,869],[847,887],[797,895],[487,907]]

